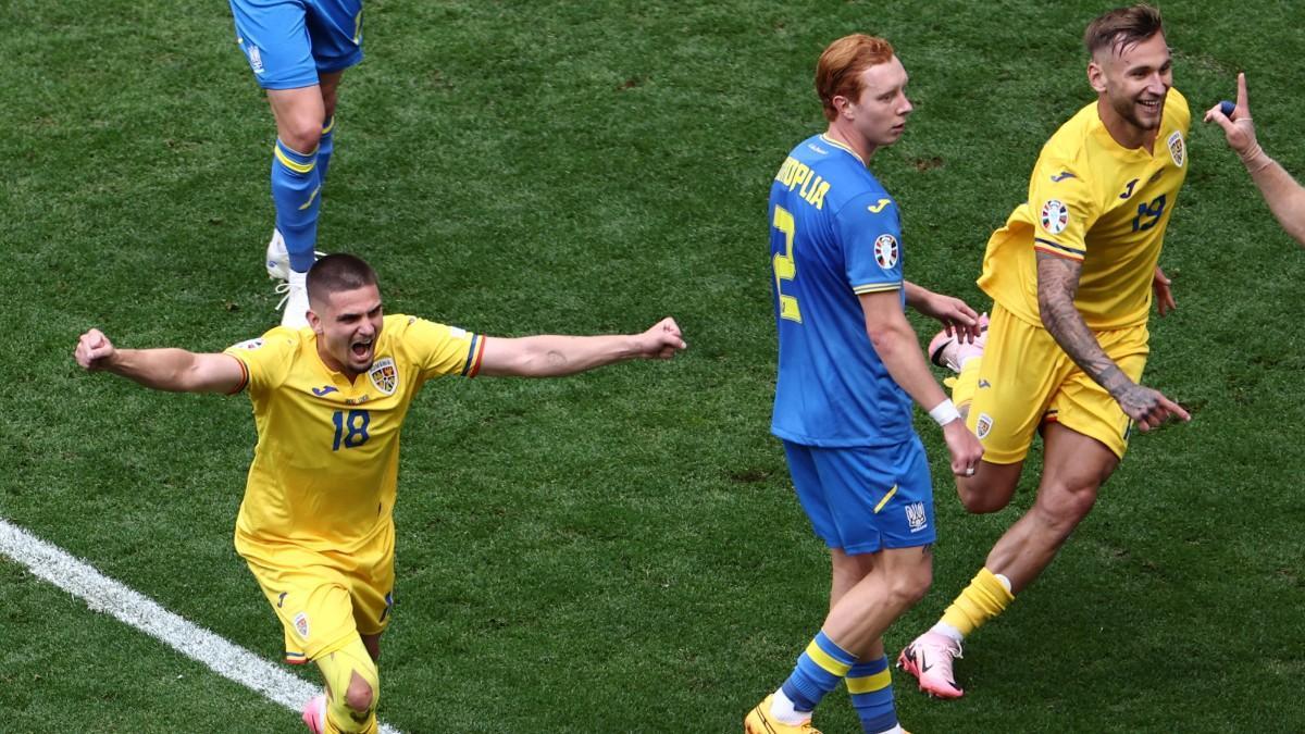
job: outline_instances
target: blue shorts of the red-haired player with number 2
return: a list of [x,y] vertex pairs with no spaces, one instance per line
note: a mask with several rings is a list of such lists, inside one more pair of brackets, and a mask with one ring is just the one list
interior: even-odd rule
[[784,453],[797,502],[829,547],[857,555],[937,538],[933,482],[919,436],[889,447],[784,441]]

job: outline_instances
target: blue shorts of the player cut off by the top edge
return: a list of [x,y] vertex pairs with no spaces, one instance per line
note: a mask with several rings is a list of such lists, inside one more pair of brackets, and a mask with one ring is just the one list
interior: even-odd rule
[[298,89],[363,60],[363,0],[231,0],[258,86]]

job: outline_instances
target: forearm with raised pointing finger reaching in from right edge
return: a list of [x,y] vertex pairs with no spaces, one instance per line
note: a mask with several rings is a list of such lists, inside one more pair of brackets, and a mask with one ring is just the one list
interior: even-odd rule
[[1228,146],[1246,166],[1278,223],[1296,242],[1305,244],[1305,188],[1255,141],[1255,124],[1250,119],[1250,101],[1246,97],[1246,74],[1237,74],[1237,106],[1232,118],[1215,104],[1206,111],[1205,119],[1223,128]]

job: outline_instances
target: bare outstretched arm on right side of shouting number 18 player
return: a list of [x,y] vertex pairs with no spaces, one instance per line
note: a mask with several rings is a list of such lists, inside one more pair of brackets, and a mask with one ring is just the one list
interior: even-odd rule
[[628,359],[671,359],[685,346],[680,327],[671,317],[641,334],[488,337],[480,375],[560,377]]

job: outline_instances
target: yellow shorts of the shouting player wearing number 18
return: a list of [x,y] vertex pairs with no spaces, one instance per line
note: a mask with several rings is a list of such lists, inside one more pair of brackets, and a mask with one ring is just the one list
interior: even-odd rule
[[378,635],[390,622],[393,547],[363,564],[295,547],[243,555],[284,628],[286,662],[333,653],[355,632]]

